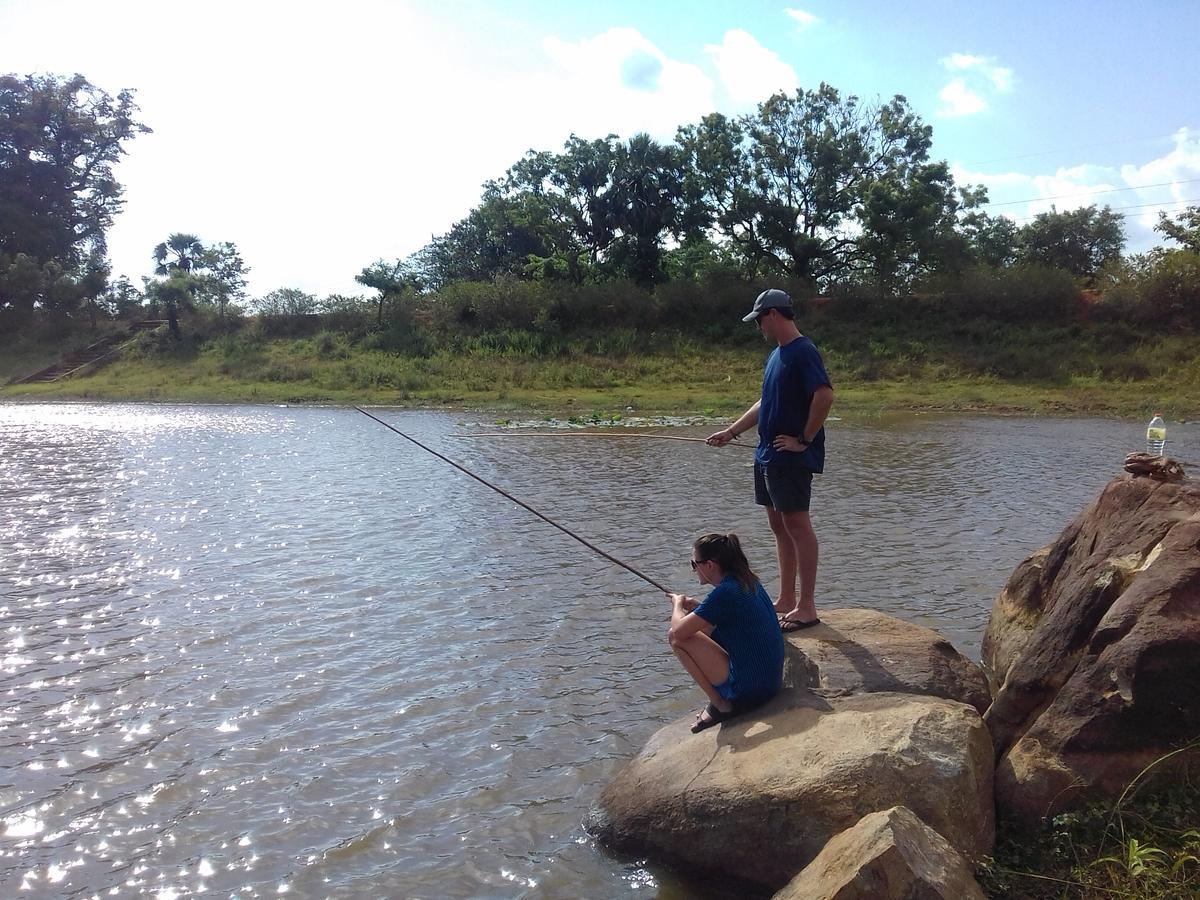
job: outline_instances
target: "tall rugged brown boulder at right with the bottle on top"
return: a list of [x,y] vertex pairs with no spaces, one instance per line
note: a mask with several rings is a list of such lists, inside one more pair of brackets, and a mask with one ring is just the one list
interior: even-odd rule
[[[1156,472],[1166,473],[1165,468]],[[1114,479],[992,610],[985,721],[1002,812],[1118,794],[1200,733],[1200,486]],[[1189,754],[1171,764],[1195,761]]]

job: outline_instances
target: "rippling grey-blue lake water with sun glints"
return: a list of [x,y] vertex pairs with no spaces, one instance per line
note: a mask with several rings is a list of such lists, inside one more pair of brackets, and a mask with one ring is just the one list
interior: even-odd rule
[[[712,529],[774,575],[748,451],[379,415],[660,582]],[[818,602],[977,656],[1144,427],[832,424]],[[0,404],[0,895],[688,893],[580,826],[701,703],[667,612],[354,410]]]

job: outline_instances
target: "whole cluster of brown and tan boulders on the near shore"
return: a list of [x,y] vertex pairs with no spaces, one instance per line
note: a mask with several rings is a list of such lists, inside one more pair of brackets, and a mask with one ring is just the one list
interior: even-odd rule
[[982,898],[997,809],[1114,797],[1200,734],[1200,486],[1141,456],[1013,572],[983,668],[930,629],[822,610],[787,636],[779,696],[661,728],[589,830],[780,898]]

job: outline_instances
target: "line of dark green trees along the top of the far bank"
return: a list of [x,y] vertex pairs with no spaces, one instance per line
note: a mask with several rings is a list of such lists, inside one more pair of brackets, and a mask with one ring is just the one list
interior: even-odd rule
[[[0,77],[0,329],[150,313],[175,330],[182,311],[224,320],[245,310],[250,270],[229,241],[174,233],[148,253],[154,277],[140,287],[110,278],[106,234],[124,203],[114,167],[149,132],[132,91],[112,97],[78,74]],[[1110,208],[1052,209],[1018,227],[986,212],[985,188],[955,184],[931,151],[932,128],[905,97],[868,103],[827,84],[745,115],[713,113],[670,143],[572,134],[487,181],[478,205],[416,253],[365,266],[356,280],[373,299],[281,288],[250,306],[305,316],[370,304],[384,328],[403,299],[437,302],[463,283],[702,292],[778,281],[888,298],[1042,269],[1130,314],[1195,320],[1200,206],[1160,214],[1176,248],[1127,257]]]

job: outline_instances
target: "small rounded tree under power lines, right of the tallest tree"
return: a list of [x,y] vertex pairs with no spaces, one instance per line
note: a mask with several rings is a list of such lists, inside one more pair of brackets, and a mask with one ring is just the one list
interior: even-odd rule
[[1019,257],[1094,283],[1106,263],[1124,250],[1124,222],[1109,206],[1042,212],[1018,233]]

